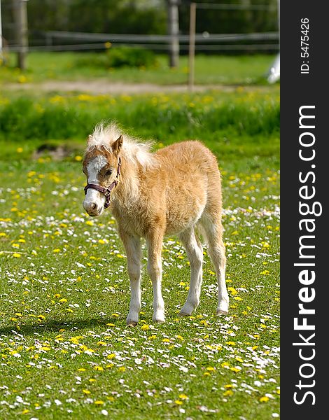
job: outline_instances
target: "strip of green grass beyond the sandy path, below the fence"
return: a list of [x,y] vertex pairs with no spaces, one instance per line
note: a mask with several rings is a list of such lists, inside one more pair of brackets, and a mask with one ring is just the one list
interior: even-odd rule
[[[105,52],[31,52],[27,56],[27,70],[15,69],[16,57],[8,57],[7,66],[0,66],[0,85],[6,83],[39,83],[47,80],[87,80],[103,78],[104,82],[155,83],[176,85],[187,83],[188,57],[180,58],[179,67],[170,69],[165,55],[158,56],[158,66],[148,69],[106,69],[97,65]],[[88,62],[89,59],[89,62]],[[197,55],[195,83],[201,85],[250,85],[263,83],[274,55]]]

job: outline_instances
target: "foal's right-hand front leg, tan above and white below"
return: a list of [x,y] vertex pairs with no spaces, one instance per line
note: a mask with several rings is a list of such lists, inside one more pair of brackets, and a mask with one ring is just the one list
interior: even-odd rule
[[153,285],[153,321],[165,322],[165,302],[162,299],[161,279],[162,279],[162,249],[163,235],[160,232],[151,232],[146,237],[148,247],[148,275]]

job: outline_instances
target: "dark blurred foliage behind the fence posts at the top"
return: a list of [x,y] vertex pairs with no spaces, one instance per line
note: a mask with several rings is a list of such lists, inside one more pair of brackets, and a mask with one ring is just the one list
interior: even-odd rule
[[[13,20],[12,0],[2,0],[3,22]],[[187,34],[190,1],[179,2],[181,34]],[[241,34],[277,31],[276,0],[198,0],[244,6],[272,6],[264,10],[197,10],[197,33]],[[108,34],[166,34],[166,0],[29,0],[29,42],[43,31],[81,31]],[[3,36],[13,38],[13,27],[3,26]]]

